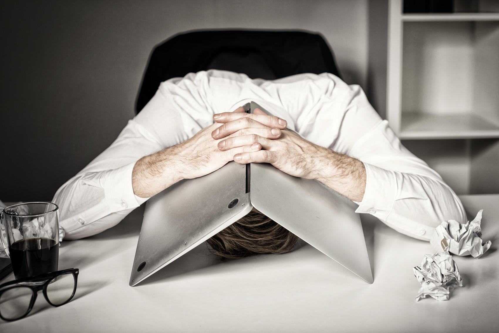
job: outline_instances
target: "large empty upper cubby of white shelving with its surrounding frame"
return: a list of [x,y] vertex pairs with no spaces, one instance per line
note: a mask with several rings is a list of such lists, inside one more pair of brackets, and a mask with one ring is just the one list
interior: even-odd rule
[[387,119],[401,139],[499,138],[499,13],[403,14],[391,0]]

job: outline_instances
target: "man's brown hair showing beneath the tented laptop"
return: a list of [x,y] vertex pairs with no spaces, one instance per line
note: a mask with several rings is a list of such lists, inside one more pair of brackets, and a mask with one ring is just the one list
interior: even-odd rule
[[207,241],[213,253],[223,260],[290,252],[297,240],[295,234],[253,208]]

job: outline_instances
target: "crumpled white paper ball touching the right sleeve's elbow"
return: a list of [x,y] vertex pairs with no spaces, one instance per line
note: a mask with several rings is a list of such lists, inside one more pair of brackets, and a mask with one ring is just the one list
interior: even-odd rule
[[451,219],[437,226],[430,240],[437,253],[449,251],[457,255],[471,254],[477,259],[480,258],[492,245],[490,240],[485,243],[482,240],[482,211],[483,209],[471,222],[459,223]]

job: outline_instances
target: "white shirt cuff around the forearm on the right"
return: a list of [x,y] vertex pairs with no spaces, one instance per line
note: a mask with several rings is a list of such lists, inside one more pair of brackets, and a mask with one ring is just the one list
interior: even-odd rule
[[397,194],[397,179],[393,171],[368,163],[366,168],[366,189],[355,212],[369,213],[385,220],[393,209]]

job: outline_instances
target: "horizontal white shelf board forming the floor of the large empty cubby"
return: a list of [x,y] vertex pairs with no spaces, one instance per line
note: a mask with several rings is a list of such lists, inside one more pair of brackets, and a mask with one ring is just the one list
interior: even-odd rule
[[401,139],[499,138],[499,125],[473,113],[402,113]]

